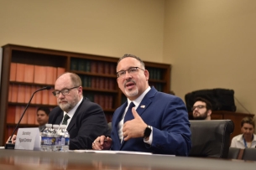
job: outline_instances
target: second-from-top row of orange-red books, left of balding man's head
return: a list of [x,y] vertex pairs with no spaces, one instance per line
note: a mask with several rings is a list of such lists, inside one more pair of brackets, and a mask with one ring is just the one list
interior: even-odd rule
[[[28,103],[35,90],[42,87],[38,85],[9,85],[8,101],[13,103]],[[57,99],[52,94],[53,90],[41,90],[34,94],[31,104],[37,105],[57,105]]]

